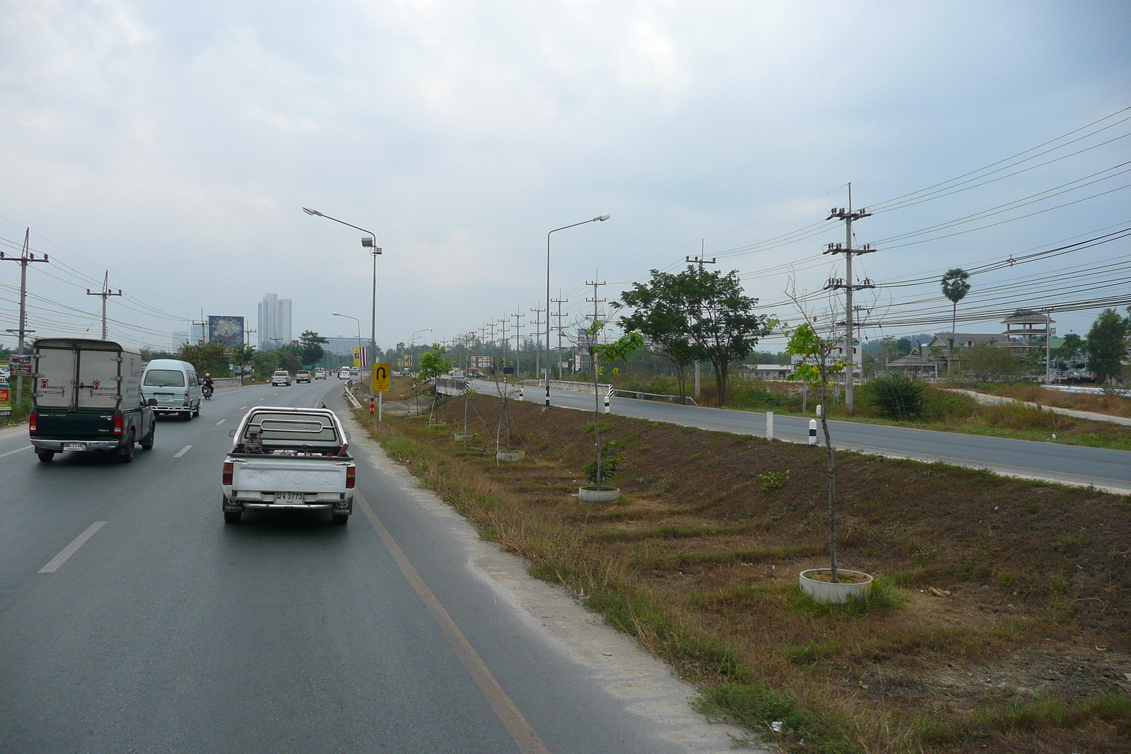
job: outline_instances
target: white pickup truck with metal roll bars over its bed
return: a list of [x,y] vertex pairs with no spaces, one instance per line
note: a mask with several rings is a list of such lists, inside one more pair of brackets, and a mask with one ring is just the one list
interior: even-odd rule
[[252,509],[329,510],[335,523],[349,521],[357,467],[334,411],[257,406],[230,434],[221,480],[227,523]]

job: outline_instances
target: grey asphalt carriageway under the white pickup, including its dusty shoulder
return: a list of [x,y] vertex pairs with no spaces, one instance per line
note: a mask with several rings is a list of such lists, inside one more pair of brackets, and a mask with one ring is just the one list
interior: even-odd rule
[[357,432],[348,526],[225,525],[247,407],[340,409],[340,391],[218,391],[131,465],[41,463],[26,430],[0,433],[0,751],[728,751],[690,688]]

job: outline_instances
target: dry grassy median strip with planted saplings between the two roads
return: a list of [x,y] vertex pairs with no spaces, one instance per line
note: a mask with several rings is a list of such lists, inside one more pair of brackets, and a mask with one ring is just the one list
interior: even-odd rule
[[[877,588],[830,607],[797,590],[829,556],[824,449],[512,401],[527,459],[500,465],[501,401],[470,404],[467,443],[463,398],[431,426],[357,416],[483,537],[668,660],[705,711],[784,752],[1131,748],[1126,499],[837,452],[839,560]],[[597,430],[618,504],[577,502]]]

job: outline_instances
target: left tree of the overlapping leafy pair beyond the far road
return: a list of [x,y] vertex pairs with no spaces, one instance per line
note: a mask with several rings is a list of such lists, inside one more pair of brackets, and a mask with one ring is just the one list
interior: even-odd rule
[[648,283],[633,283],[631,291],[621,293],[612,302],[614,310],[633,309],[621,317],[619,324],[625,332],[639,332],[657,355],[675,367],[680,398],[688,397],[687,367],[696,361],[691,343],[691,323],[679,302],[679,279],[670,272],[651,270]]

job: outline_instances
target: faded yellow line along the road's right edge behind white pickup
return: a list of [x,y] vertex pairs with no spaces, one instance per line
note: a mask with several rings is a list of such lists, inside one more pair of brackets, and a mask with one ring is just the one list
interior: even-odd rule
[[467,671],[472,674],[472,678],[478,685],[480,691],[486,696],[487,702],[491,704],[491,709],[494,710],[499,719],[507,727],[510,733],[510,737],[515,739],[518,745],[519,751],[523,754],[550,754],[550,749],[546,745],[542,743],[538,738],[538,734],[534,731],[530,723],[526,721],[523,713],[518,711],[515,702],[511,701],[503,687],[495,681],[495,677],[491,674],[490,668],[487,668],[486,662],[480,657],[472,643],[467,641],[467,636],[464,632],[459,630],[456,622],[451,619],[448,615],[448,610],[443,609],[443,605],[429,588],[424,579],[421,578],[416,569],[408,561],[404,551],[389,534],[389,530],[385,528],[381,523],[381,519],[378,518],[377,512],[370,506],[360,492],[354,491],[354,502],[361,506],[361,510],[365,513],[365,518],[369,519],[370,525],[373,530],[377,531],[377,536],[381,538],[385,543],[385,547],[392,555],[392,560],[397,562],[397,566],[400,572],[405,574],[405,579],[412,586],[416,596],[421,598],[424,603],[424,607],[428,612],[432,614],[432,618],[435,621],[440,629],[440,633],[443,638],[448,640],[451,648],[456,650],[456,656],[459,657],[459,661],[464,664]]

